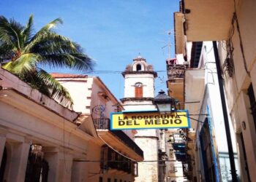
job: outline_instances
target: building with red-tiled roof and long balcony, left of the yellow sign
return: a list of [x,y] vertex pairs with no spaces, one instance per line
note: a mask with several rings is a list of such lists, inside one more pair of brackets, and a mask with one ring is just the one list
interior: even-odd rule
[[74,110],[92,117],[97,138],[89,141],[83,173],[86,181],[134,181],[143,151],[132,140],[134,132],[110,130],[110,113],[123,107],[97,76],[52,74],[74,101]]

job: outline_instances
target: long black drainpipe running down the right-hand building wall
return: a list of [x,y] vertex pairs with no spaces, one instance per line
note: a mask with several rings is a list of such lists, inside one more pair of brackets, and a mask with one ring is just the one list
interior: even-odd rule
[[224,123],[225,123],[226,137],[227,137],[227,149],[228,149],[228,156],[230,158],[232,181],[237,182],[238,179],[237,179],[237,175],[236,175],[236,165],[235,165],[234,152],[233,152],[232,140],[231,140],[231,135],[230,135],[230,125],[228,123],[228,117],[227,117],[227,106],[226,106],[225,93],[224,93],[224,88],[223,88],[223,78],[222,78],[221,66],[220,66],[220,61],[219,61],[219,52],[218,52],[218,48],[217,48],[217,42],[212,41],[212,43],[214,46],[214,56],[215,56],[215,60],[216,60],[217,75],[218,75],[218,79],[219,79],[219,93],[220,93],[220,98],[222,100],[222,111],[223,111],[223,116],[224,116]]

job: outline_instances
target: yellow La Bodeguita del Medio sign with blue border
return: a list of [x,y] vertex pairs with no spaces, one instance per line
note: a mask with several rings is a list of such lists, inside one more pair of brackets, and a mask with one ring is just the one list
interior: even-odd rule
[[187,110],[170,114],[158,112],[117,112],[111,113],[111,130],[189,128]]

